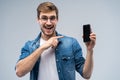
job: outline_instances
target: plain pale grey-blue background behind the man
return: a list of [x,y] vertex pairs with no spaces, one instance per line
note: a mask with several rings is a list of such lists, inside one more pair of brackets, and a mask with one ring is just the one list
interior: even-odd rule
[[[36,8],[47,0],[0,0],[0,80],[18,78],[15,64],[20,49],[34,39],[40,29]],[[75,37],[86,55],[82,41],[82,25],[90,23],[97,34],[94,70],[90,80],[120,79],[120,0],[49,0],[59,8],[57,31]],[[76,75],[77,80],[81,76]]]

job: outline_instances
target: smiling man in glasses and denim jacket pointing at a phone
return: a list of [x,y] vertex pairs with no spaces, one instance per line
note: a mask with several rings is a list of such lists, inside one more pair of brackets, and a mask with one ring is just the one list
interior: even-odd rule
[[90,34],[86,43],[86,60],[76,39],[56,32],[58,9],[51,2],[37,8],[41,32],[33,41],[26,42],[16,64],[19,77],[30,72],[30,80],[75,80],[75,70],[89,79],[93,69],[93,48],[96,35]]

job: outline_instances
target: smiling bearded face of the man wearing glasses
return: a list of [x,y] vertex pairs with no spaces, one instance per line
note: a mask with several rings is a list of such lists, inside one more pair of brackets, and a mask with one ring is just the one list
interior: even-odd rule
[[55,34],[57,21],[58,20],[55,11],[51,11],[48,13],[40,13],[38,22],[40,24],[43,36],[52,37]]

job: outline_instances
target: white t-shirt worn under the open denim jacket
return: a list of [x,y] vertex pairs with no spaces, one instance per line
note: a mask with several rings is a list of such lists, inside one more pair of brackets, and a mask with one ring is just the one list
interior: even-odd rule
[[[44,44],[45,40],[40,39],[40,45]],[[38,80],[59,80],[55,60],[55,50],[48,48],[41,54]]]

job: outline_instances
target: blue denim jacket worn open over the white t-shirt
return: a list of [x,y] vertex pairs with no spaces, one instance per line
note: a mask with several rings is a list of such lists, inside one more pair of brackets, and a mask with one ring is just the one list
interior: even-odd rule
[[[57,34],[57,36],[60,35]],[[35,40],[26,42],[25,46],[21,49],[19,60],[29,56],[39,47],[40,37],[41,33]],[[82,49],[74,38],[64,36],[63,38],[59,38],[58,41],[59,44],[55,49],[55,57],[59,80],[75,80],[75,70],[82,76],[85,62],[82,56]],[[40,59],[38,59],[30,72],[30,80],[38,79],[39,63]]]

